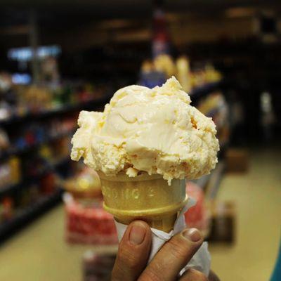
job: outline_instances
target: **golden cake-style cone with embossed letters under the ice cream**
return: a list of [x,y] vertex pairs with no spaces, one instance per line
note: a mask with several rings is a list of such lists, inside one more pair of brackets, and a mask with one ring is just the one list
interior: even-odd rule
[[141,219],[150,227],[169,233],[188,200],[183,180],[174,179],[168,185],[159,175],[129,178],[126,174],[107,177],[99,173],[99,176],[103,207],[116,221],[126,225]]

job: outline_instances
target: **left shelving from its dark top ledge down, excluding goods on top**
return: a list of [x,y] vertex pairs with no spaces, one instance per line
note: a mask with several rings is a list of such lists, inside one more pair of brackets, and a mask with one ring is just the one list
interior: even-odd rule
[[[0,240],[13,235],[60,201],[59,179],[70,176],[68,173],[72,167],[67,144],[77,126],[76,115],[80,110],[100,110],[110,98],[111,94],[105,94],[101,98],[88,98],[76,104],[60,105],[51,110],[28,112],[0,120],[0,126],[11,135],[17,136],[18,131],[22,133],[23,129],[31,128],[32,136],[29,139],[27,135],[21,136],[23,141],[13,138],[8,148],[0,154],[0,161],[3,160],[6,165],[4,167],[9,167],[7,171],[10,174],[16,171],[17,175],[4,177],[1,183]],[[69,120],[73,118],[75,122],[72,124]],[[32,130],[34,124],[35,129]],[[39,133],[37,128],[41,129]],[[11,168],[11,161],[17,163],[16,170]]]

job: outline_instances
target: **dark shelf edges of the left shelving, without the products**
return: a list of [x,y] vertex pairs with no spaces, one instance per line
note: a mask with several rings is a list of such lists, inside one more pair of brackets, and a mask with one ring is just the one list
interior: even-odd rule
[[[0,126],[11,126],[12,129],[16,129],[17,126],[22,123],[29,124],[30,122],[37,122],[41,119],[49,119],[61,115],[67,115],[68,113],[79,112],[80,110],[98,110],[100,107],[105,105],[105,103],[107,103],[110,98],[110,95],[105,95],[101,98],[95,100],[86,100],[76,105],[63,105],[56,109],[46,110],[44,112],[30,112],[22,116],[13,116],[8,119],[1,120]],[[24,148],[8,149],[0,155],[0,161],[8,159],[9,157],[13,157],[15,155],[28,155],[29,152],[40,148],[41,145],[46,145],[65,136],[72,136],[73,133],[74,129],[58,133],[54,136],[47,136],[43,141],[28,145]],[[23,177],[18,183],[2,186],[0,188],[0,198],[15,190],[22,190],[26,188],[30,185],[30,183],[39,181],[44,175],[48,174],[49,172],[58,171],[58,169],[61,169],[63,166],[67,168],[67,166],[69,165],[69,156],[64,157],[63,159],[56,160],[55,162],[46,162],[44,168],[41,169],[41,171],[39,171],[36,175]],[[39,198],[38,201],[34,202],[30,206],[24,207],[24,209],[16,210],[16,213],[12,218],[8,219],[8,221],[0,223],[0,240],[4,240],[5,238],[13,235],[18,230],[20,230],[20,228],[33,221],[34,218],[37,218],[40,214],[43,214],[44,211],[47,211],[51,207],[55,206],[55,204],[61,201],[61,194],[62,189],[58,188],[58,190],[56,190],[53,194],[41,195],[41,198]]]

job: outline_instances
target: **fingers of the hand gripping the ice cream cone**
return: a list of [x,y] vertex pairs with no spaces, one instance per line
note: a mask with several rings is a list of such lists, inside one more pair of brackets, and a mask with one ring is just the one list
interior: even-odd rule
[[185,228],[171,238],[147,265],[151,230],[144,221],[133,221],[119,244],[112,270],[112,281],[219,281],[214,273],[209,278],[189,269],[178,279],[178,273],[200,248],[203,237],[196,228]]

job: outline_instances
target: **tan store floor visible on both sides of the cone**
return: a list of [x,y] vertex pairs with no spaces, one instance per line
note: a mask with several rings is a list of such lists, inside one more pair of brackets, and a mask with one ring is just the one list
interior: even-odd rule
[[[237,233],[233,246],[210,245],[221,281],[269,279],[281,236],[280,159],[277,150],[252,152],[249,173],[223,178],[218,200],[235,201]],[[64,242],[63,216],[59,206],[1,245],[0,280],[81,280],[81,256],[89,248]]]

